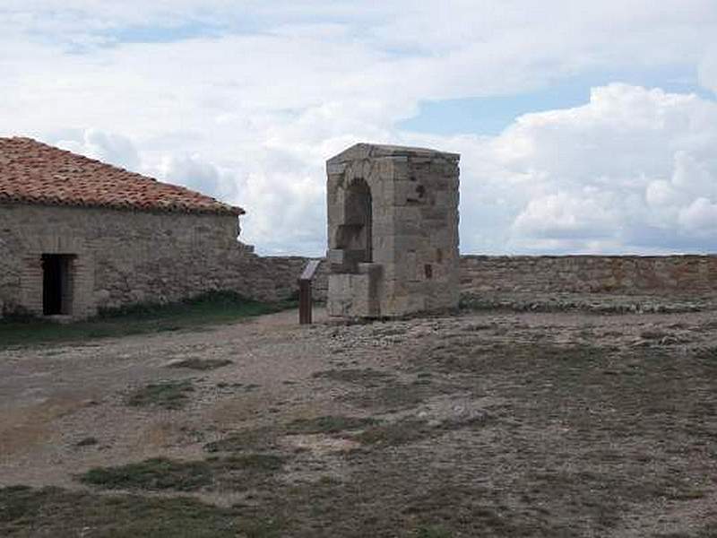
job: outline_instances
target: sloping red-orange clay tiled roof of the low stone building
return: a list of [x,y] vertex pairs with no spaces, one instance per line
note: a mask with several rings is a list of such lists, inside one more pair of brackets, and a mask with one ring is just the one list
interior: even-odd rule
[[188,188],[21,137],[0,137],[0,204],[8,202],[174,213],[244,213],[240,207]]

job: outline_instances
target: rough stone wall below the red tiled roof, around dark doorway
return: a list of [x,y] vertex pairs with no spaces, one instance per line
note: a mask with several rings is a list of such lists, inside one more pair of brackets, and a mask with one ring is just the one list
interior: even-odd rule
[[233,215],[0,205],[0,314],[42,313],[41,256],[72,255],[72,316],[232,290],[261,300],[297,289],[306,259],[260,257]]

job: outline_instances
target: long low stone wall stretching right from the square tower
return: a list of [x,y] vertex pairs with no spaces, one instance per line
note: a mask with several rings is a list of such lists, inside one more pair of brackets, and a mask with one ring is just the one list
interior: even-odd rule
[[462,256],[461,291],[709,295],[717,256]]

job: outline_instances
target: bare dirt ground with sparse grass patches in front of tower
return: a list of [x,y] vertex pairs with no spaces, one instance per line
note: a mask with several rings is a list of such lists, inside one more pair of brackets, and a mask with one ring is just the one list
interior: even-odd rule
[[0,535],[717,536],[715,315],[289,311],[0,351]]

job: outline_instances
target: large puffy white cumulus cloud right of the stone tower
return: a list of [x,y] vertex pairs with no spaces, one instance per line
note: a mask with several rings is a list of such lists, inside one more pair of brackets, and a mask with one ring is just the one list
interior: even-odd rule
[[495,138],[465,141],[462,244],[714,249],[716,125],[714,101],[611,84],[582,107],[529,114]]

